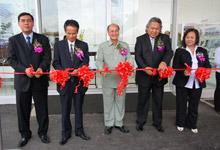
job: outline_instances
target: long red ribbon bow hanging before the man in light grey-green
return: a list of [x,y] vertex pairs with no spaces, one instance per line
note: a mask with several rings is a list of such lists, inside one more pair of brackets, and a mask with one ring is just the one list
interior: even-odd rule
[[122,96],[123,90],[128,83],[128,77],[131,76],[131,72],[134,70],[134,68],[130,65],[130,62],[125,61],[123,64],[120,62],[115,70],[117,71],[117,75],[120,76],[117,92],[119,96]]

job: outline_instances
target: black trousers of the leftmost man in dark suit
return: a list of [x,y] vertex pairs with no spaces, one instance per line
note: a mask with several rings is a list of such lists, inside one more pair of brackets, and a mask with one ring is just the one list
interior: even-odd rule
[[16,103],[18,115],[18,128],[21,136],[30,138],[32,132],[30,130],[30,113],[32,97],[36,110],[38,122],[38,135],[47,134],[49,118],[48,118],[48,90],[34,90],[30,88],[27,92],[19,92],[16,90]]

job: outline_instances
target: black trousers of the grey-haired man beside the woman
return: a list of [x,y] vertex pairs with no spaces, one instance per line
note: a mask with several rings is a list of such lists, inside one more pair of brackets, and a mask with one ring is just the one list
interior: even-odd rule
[[138,86],[137,123],[145,124],[149,111],[150,92],[152,90],[153,123],[156,126],[162,124],[162,99],[164,86],[158,87],[150,83],[147,87]]

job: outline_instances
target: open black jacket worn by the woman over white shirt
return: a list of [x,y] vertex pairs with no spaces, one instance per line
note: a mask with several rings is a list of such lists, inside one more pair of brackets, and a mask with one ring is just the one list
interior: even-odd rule
[[[199,58],[198,60],[198,67],[205,67],[205,68],[211,68],[207,50],[198,47],[196,50],[197,53],[203,53],[203,56],[205,57],[205,61],[200,61]],[[174,59],[173,59],[173,68],[174,69],[186,69],[186,66],[184,63],[187,63],[189,66],[192,66],[192,58],[190,53],[185,49],[185,48],[178,48],[176,49]],[[173,84],[176,86],[184,87],[189,80],[189,76],[184,75],[184,71],[176,71],[175,77],[173,79]],[[199,86],[201,88],[206,87],[205,81],[203,83],[199,82]]]

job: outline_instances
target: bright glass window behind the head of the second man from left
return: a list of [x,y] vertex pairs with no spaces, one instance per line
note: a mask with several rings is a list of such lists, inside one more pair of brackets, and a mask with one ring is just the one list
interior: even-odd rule
[[63,39],[63,25],[68,19],[78,21],[78,36],[83,34],[90,52],[97,51],[98,45],[106,40],[105,0],[47,0],[41,1],[41,5],[43,34],[49,36],[52,46]]

